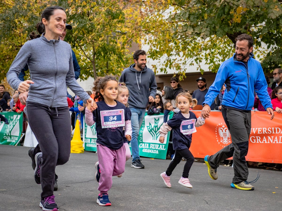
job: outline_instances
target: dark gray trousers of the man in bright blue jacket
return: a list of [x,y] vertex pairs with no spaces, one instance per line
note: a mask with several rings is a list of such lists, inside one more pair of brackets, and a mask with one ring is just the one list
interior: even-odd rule
[[[248,179],[248,166],[245,156],[248,153],[249,137],[251,133],[251,112],[226,109],[224,121],[231,134],[232,143],[208,157],[211,168],[216,169],[222,160],[233,156],[234,177],[232,183],[238,184]],[[228,124],[227,124],[228,123]]]

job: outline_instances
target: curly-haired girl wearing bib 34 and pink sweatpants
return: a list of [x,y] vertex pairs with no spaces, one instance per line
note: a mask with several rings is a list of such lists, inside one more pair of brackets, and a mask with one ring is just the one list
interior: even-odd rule
[[[98,80],[98,81],[97,81]],[[116,101],[118,96],[118,81],[114,76],[98,78],[94,82],[93,91],[96,91],[98,102],[96,106],[87,104],[85,122],[91,126],[96,122],[98,165],[96,179],[99,181],[100,194],[97,203],[101,206],[111,206],[108,191],[113,184],[112,176],[124,173],[125,137],[131,140],[131,123],[125,106]],[[98,176],[98,178],[97,178]]]

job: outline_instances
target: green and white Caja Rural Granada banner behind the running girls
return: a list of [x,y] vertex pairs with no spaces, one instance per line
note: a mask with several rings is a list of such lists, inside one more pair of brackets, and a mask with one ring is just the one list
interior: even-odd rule
[[[173,112],[169,112],[168,119],[173,117]],[[170,131],[165,137],[164,143],[160,143],[160,126],[164,122],[164,114],[158,115],[147,115],[142,122],[142,126],[139,131],[138,145],[139,145],[139,155],[148,158],[159,158],[166,159],[166,153],[168,150],[168,142]],[[85,124],[83,127],[83,142],[84,149],[86,151],[97,151],[96,147],[97,134],[95,129],[95,124],[88,126]],[[131,150],[131,144],[129,142],[129,148]]]

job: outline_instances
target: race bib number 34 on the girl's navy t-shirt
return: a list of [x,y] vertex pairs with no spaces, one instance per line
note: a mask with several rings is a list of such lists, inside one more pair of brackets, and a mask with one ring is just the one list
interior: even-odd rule
[[102,128],[125,126],[124,109],[100,111]]

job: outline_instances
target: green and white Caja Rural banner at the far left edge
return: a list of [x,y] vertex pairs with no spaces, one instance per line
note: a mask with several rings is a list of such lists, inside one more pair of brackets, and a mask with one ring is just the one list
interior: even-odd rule
[[0,122],[0,144],[16,145],[23,130],[23,113],[1,112],[8,119],[9,124]]

